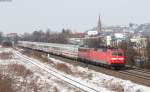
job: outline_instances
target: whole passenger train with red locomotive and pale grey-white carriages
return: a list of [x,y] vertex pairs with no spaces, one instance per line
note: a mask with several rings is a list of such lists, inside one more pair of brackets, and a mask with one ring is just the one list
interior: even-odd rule
[[114,68],[121,68],[125,65],[125,56],[122,49],[106,47],[87,48],[79,45],[30,41],[18,41],[18,46],[86,61],[90,64],[100,64]]

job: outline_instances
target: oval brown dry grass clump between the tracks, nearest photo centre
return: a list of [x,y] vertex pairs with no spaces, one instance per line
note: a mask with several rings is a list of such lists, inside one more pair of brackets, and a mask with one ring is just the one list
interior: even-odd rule
[[57,63],[55,64],[55,67],[58,69],[58,70],[61,70],[67,74],[72,74],[73,72],[71,71],[71,69],[66,65],[66,64],[63,64],[63,63]]

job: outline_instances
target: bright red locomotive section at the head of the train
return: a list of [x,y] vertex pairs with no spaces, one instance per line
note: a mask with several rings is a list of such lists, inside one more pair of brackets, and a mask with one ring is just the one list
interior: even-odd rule
[[79,48],[78,58],[90,63],[113,67],[123,67],[125,64],[123,50],[121,49]]

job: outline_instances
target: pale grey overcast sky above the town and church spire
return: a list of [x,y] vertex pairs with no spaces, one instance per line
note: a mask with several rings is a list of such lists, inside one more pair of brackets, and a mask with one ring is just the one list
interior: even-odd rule
[[83,32],[97,25],[150,22],[150,0],[12,0],[0,1],[0,31],[4,33],[61,31]]

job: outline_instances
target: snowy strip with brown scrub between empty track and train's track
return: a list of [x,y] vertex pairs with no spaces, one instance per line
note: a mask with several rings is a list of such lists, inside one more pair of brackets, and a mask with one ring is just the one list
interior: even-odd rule
[[75,67],[73,65],[51,57],[49,57],[49,59],[55,64],[61,63],[69,67],[73,74],[66,74],[66,76],[74,77],[82,82],[92,85],[93,87],[105,87],[117,92],[149,92],[150,90],[149,87],[135,84],[129,80],[123,80],[103,73],[95,72],[88,68],[82,68],[79,66]]

